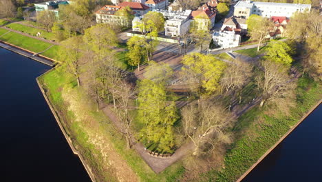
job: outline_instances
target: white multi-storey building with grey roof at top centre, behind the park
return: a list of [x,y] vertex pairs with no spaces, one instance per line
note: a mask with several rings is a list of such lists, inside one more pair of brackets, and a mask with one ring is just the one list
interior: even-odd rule
[[165,35],[170,37],[180,37],[190,28],[190,15],[192,10],[185,10],[183,12],[171,11],[171,10],[155,10],[163,14],[167,19],[164,23]]

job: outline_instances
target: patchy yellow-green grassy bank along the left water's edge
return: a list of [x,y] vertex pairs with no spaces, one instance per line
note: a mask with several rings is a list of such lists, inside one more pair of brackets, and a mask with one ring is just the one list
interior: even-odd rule
[[[75,87],[75,83],[61,67],[48,72],[40,77],[39,80],[47,90],[47,95],[54,108],[63,119],[63,125],[65,125],[66,130],[76,144],[76,148],[81,150],[84,158],[101,181],[106,179],[111,181],[111,176],[116,174],[113,165],[107,168],[106,163],[102,160],[105,159],[105,154],[109,154],[111,151],[119,154],[122,160],[125,160],[127,165],[139,176],[141,181],[175,181],[184,172],[182,163],[179,162],[167,168],[164,172],[155,174],[135,150],[126,149],[125,139],[122,139],[122,136],[114,131],[109,119],[103,112],[96,112],[93,106],[89,106],[91,105],[88,104],[90,99],[86,97],[83,90]],[[76,99],[77,105],[67,101],[67,97],[64,97],[64,95],[68,93],[73,98],[78,98]],[[79,116],[84,113],[88,114],[86,121],[81,121]],[[104,148],[98,147],[99,139],[103,139],[102,142],[111,148],[108,151],[104,151]],[[109,160],[113,159],[107,159],[107,161]],[[114,165],[118,164],[114,163]],[[113,179],[115,179],[115,176]]]

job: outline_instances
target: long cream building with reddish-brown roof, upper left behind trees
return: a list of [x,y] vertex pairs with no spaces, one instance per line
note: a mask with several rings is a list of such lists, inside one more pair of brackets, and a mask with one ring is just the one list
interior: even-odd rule
[[96,12],[96,23],[111,23],[125,27],[131,26],[131,21],[116,14],[120,9],[122,9],[121,6],[104,6],[100,8]]

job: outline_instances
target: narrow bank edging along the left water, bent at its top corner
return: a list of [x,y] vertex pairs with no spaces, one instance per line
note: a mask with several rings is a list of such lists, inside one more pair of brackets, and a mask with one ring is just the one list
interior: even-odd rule
[[[54,69],[55,68],[52,68],[52,69],[48,70],[47,72],[51,72]],[[44,72],[43,74],[47,74],[47,72]],[[41,74],[39,77],[43,76],[43,74]],[[69,147],[72,149],[72,152],[74,154],[76,154],[78,156],[78,158],[81,160],[81,162],[83,163],[83,166],[84,166],[85,170],[87,171],[87,174],[89,175],[89,178],[93,182],[96,182],[95,176],[94,176],[91,168],[86,163],[86,161],[83,158],[82,154],[80,152],[78,152],[78,150],[76,150],[76,148],[74,147],[74,144],[72,142],[72,139],[69,138],[67,132],[65,131],[65,128],[63,128],[63,124],[61,123],[61,120],[59,119],[58,114],[56,113],[56,110],[54,109],[54,107],[52,106],[52,103],[48,99],[47,94],[45,94],[45,90],[43,90],[43,87],[42,87],[42,85],[41,85],[41,83],[39,81],[39,77],[36,78],[36,82],[37,82],[37,84],[39,86],[39,89],[41,90],[41,93],[43,94],[43,97],[45,98],[45,101],[47,102],[47,105],[49,106],[50,110],[52,111],[52,114],[54,115],[54,117],[56,119],[56,122],[58,123],[59,128],[61,128],[61,132],[65,136],[65,139],[66,139]]]

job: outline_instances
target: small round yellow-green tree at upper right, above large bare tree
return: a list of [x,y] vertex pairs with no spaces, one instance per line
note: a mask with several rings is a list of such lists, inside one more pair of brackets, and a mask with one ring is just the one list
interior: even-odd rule
[[264,59],[274,61],[275,63],[281,63],[286,66],[290,66],[293,59],[290,56],[294,54],[294,50],[284,41],[270,41],[266,45],[266,55]]

